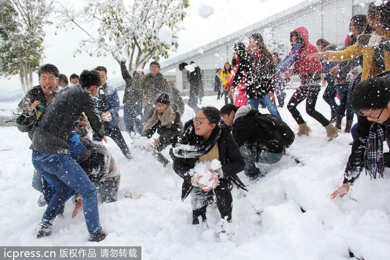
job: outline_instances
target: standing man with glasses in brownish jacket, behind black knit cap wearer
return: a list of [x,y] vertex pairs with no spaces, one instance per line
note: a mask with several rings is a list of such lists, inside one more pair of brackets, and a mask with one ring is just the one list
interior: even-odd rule
[[165,92],[172,98],[172,88],[169,81],[162,76],[160,70],[160,63],[152,61],[149,66],[149,74],[143,78],[139,77],[138,72],[134,75],[133,87],[143,90],[144,115],[149,115],[155,109],[155,100],[161,93]]

